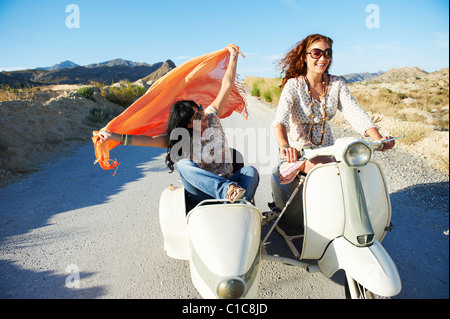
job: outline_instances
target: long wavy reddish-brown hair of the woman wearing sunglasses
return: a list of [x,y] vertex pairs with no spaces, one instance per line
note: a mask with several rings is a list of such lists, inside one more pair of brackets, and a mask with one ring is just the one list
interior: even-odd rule
[[[333,40],[331,40],[331,38],[321,34],[311,34],[297,43],[295,47],[291,49],[283,59],[281,59],[278,66],[281,67],[281,74],[284,74],[283,81],[281,82],[282,87],[284,87],[287,80],[299,77],[300,75],[306,75],[306,49],[317,41],[326,41],[330,48],[333,45]],[[325,73],[328,72],[331,62],[332,61],[328,64]]]

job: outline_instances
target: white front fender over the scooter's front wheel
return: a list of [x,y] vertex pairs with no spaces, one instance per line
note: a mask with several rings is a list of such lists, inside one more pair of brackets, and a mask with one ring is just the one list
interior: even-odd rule
[[378,240],[368,247],[356,247],[338,237],[327,247],[318,265],[327,277],[343,269],[373,293],[391,297],[401,290],[400,275],[389,254]]

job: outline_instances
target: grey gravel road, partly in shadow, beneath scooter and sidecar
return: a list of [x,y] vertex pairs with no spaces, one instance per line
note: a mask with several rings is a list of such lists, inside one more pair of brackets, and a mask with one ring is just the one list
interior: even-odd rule
[[[251,97],[249,103],[248,121],[233,115],[223,126],[230,144],[260,169],[256,206],[266,210],[276,160],[269,130],[273,111],[261,111]],[[244,133],[255,134],[256,143],[241,142],[239,132],[247,128]],[[122,164],[112,176],[93,165],[93,146],[86,145],[0,190],[0,297],[200,298],[189,264],[163,251],[159,196],[179,183],[176,172],[168,173],[164,153],[119,146],[111,157]],[[406,157],[419,161],[401,150],[381,157],[393,184],[396,228],[383,245],[402,278],[397,298],[448,298],[448,175],[419,166],[432,182],[411,178]],[[426,201],[422,193],[435,197]],[[271,242],[275,251],[289,254],[280,238]],[[263,261],[261,278],[261,299],[344,298],[341,274],[330,280]]]

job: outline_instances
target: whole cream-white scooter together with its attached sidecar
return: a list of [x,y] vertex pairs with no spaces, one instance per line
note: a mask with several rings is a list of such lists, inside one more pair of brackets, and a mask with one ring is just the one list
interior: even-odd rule
[[[343,269],[351,298],[398,294],[397,268],[380,244],[392,228],[386,182],[371,161],[372,151],[380,146],[344,138],[330,147],[303,150],[302,159],[333,155],[337,162],[318,166],[306,177],[298,175],[287,185],[278,182],[277,168],[274,203],[265,213],[245,200],[207,200],[190,210],[183,187],[170,186],[160,199],[166,254],[189,260],[192,281],[204,298],[255,298],[261,259],[327,277]],[[271,222],[261,240],[261,226]],[[295,259],[266,253],[274,229]]]

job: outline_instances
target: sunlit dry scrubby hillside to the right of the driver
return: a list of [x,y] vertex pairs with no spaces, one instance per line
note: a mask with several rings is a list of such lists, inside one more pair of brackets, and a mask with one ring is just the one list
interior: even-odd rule
[[384,134],[405,134],[399,143],[448,172],[448,68],[430,73],[418,67],[394,68],[348,88]]

